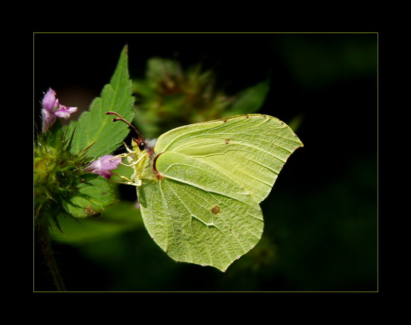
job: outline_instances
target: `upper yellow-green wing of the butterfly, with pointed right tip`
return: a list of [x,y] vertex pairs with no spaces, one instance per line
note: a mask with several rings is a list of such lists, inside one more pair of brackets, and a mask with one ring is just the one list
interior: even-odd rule
[[158,139],[154,151],[179,152],[202,161],[259,203],[270,193],[288,157],[302,146],[284,122],[267,115],[245,114],[173,129]]

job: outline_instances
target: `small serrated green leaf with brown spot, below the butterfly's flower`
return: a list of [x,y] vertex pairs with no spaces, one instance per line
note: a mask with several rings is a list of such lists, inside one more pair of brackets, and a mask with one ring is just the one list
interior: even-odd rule
[[76,188],[73,193],[62,198],[63,207],[71,216],[86,218],[118,202],[108,181],[96,174],[84,174],[72,186]]

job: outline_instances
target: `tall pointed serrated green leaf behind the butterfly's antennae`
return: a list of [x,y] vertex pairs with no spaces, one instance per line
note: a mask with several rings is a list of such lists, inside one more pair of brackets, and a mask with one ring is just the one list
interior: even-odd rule
[[87,150],[89,157],[101,157],[119,147],[127,136],[129,128],[125,123],[113,123],[113,117],[107,116],[108,111],[115,111],[125,120],[132,121],[134,117],[132,85],[128,74],[127,46],[121,52],[116,71],[110,83],[105,85],[101,97],[90,105],[89,111],[81,114],[79,121],[71,122],[68,136],[74,132],[71,149],[77,155],[82,149],[92,145]]

